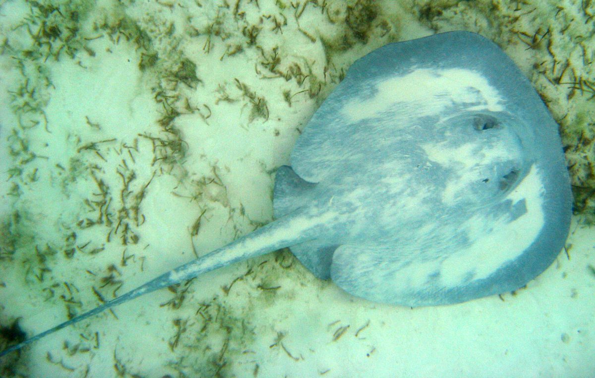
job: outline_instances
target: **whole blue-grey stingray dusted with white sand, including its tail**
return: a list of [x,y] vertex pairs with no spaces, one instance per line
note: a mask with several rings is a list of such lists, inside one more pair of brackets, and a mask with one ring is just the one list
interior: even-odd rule
[[447,305],[516,290],[555,260],[571,190],[558,125],[468,32],[357,60],[277,170],[271,223],[0,355],[156,289],[289,246],[369,301]]

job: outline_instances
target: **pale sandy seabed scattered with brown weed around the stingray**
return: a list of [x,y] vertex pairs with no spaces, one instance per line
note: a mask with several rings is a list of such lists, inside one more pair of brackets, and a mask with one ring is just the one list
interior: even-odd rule
[[[89,14],[79,5],[80,23],[62,6],[46,16],[47,33],[52,23],[62,27],[60,38],[46,38],[52,52],[67,40],[65,26],[81,30],[65,43],[74,56],[64,46],[58,60],[27,33],[25,20],[33,35],[40,27],[28,18],[33,8],[0,3],[0,248],[10,252],[0,256],[3,324],[21,317],[29,335],[40,332],[69,308],[89,310],[99,295],[112,298],[120,285],[124,293],[270,221],[274,170],[288,163],[342,71],[378,46],[430,35],[430,26],[494,39],[547,94],[557,119],[588,114],[585,95],[569,104],[568,86],[546,80],[559,68],[540,74],[547,50],[527,50],[511,32],[550,26],[555,51],[589,75],[577,45],[559,32],[574,15],[567,33],[586,35],[579,5],[557,2],[560,15],[545,3],[495,11],[463,2],[420,22],[423,5],[379,2],[366,29],[340,1],[232,3],[104,1]],[[367,32],[368,43],[347,24]],[[139,30],[151,45],[135,42]],[[595,45],[590,38],[585,46]],[[15,58],[27,49],[40,57]],[[158,54],[155,65],[146,63],[150,54]],[[164,121],[173,109],[181,114]],[[31,377],[593,376],[595,229],[580,223],[569,258],[562,252],[515,295],[378,305],[277,252],[48,336],[13,368]]]

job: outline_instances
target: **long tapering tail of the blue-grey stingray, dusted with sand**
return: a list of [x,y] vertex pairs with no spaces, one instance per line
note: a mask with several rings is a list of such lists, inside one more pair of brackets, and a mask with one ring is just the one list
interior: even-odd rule
[[[0,357],[17,351],[23,346],[29,345],[35,340],[39,340],[45,336],[68,327],[71,324],[78,323],[81,320],[92,317],[93,315],[102,313],[109,308],[115,307],[123,302],[130,301],[137,296],[153,292],[157,289],[165,288],[167,286],[176,285],[185,280],[192,279],[202,273],[223,267],[225,265],[236,263],[237,261],[247,260],[251,257],[264,255],[267,252],[275,251],[286,246],[312,239],[312,232],[318,226],[315,220],[300,215],[290,215],[273,221],[258,230],[244,236],[243,238],[234,240],[226,246],[223,246],[209,254],[204,255],[196,260],[190,261],[177,267],[168,273],[162,274],[159,277],[131,290],[117,298],[107,301],[93,310],[80,314],[64,323],[58,324],[42,333],[38,333],[30,339],[24,340],[17,345],[11,346],[8,349],[0,352]],[[296,237],[296,235],[298,235]]]

